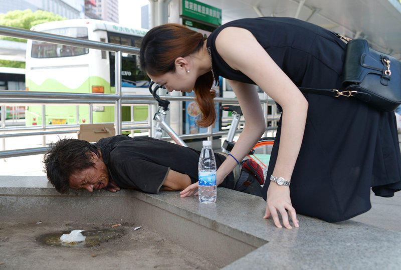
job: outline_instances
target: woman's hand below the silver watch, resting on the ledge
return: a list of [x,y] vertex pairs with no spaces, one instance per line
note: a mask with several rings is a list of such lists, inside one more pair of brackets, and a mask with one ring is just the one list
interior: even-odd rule
[[263,218],[267,219],[272,216],[274,224],[277,227],[281,228],[282,225],[277,210],[280,212],[283,219],[283,224],[287,229],[292,229],[288,219],[287,210],[290,213],[294,226],[299,227],[297,214],[291,204],[290,187],[279,186],[275,182],[270,182],[269,188],[267,190],[266,212]]

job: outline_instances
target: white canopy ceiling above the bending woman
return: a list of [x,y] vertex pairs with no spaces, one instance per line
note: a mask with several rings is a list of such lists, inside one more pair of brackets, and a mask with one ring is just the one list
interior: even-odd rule
[[[295,17],[300,0],[200,0],[222,9],[223,24],[263,16]],[[257,9],[257,11],[255,11]],[[314,11],[316,12],[314,13]],[[398,0],[305,0],[298,19],[401,58],[401,4]]]

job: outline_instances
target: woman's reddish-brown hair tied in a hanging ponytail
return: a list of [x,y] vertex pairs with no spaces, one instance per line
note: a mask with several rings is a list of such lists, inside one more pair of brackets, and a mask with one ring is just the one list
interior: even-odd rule
[[[153,76],[175,72],[175,59],[197,52],[206,39],[202,34],[182,25],[157,26],[149,30],[142,39],[139,54],[141,69]],[[197,120],[197,124],[202,127],[208,127],[216,120],[213,102],[216,91],[211,89],[213,80],[212,71],[209,71],[197,78],[193,88],[196,103],[202,112],[202,117]]]

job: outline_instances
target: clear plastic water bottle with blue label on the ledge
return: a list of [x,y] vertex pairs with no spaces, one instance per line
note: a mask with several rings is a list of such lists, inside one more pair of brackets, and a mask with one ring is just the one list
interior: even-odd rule
[[212,141],[202,142],[202,151],[199,157],[199,201],[203,203],[216,202],[216,159],[212,150]]

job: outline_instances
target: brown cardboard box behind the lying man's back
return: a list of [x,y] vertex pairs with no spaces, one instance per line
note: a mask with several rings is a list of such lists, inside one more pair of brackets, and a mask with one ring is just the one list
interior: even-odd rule
[[102,138],[114,136],[116,131],[113,123],[79,125],[78,139],[97,142]]

